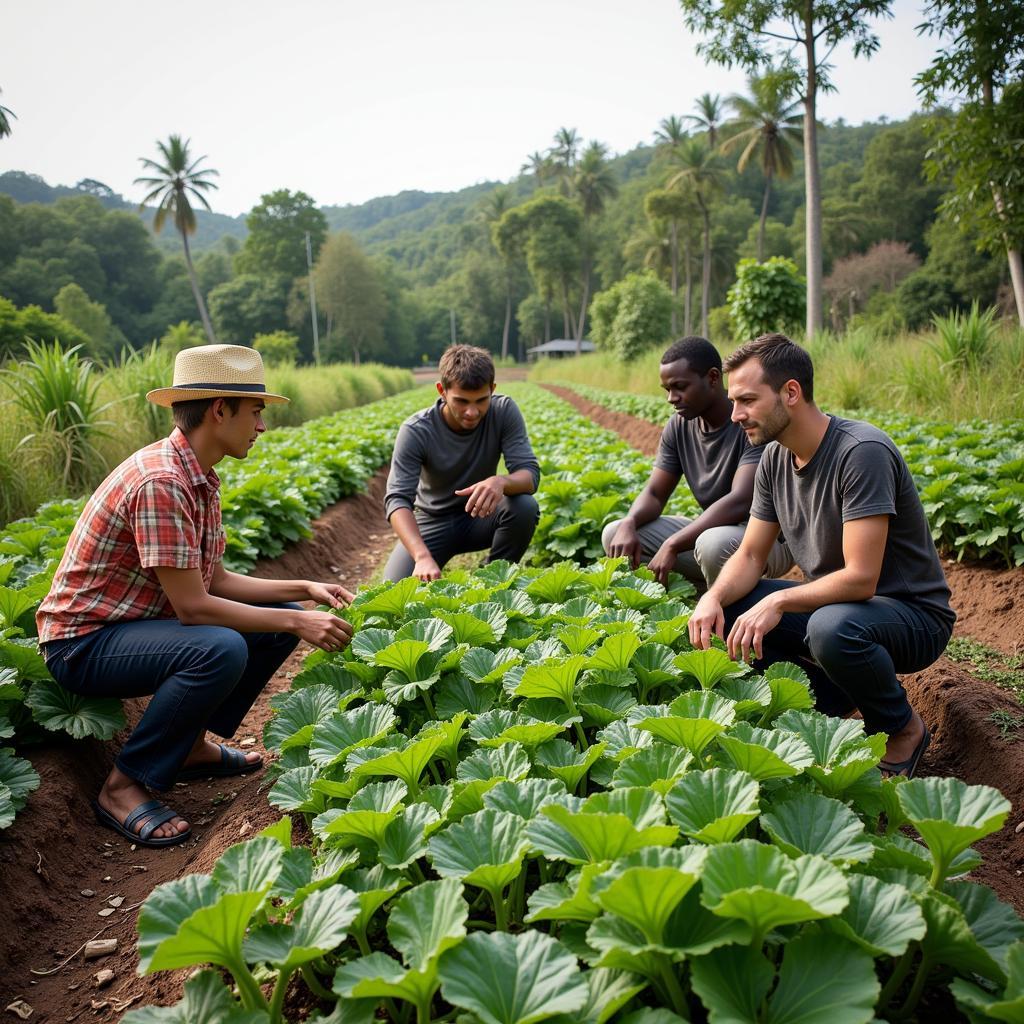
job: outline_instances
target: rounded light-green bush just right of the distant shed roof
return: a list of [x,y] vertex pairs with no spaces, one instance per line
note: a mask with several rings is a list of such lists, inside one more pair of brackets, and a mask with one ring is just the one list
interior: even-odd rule
[[594,296],[592,316],[597,345],[628,362],[668,341],[672,293],[653,274],[627,274]]

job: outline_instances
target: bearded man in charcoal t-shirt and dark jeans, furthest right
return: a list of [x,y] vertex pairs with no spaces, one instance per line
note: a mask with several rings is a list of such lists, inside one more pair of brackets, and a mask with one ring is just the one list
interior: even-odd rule
[[[883,431],[818,410],[810,356],[788,338],[763,335],[725,366],[733,420],[752,443],[775,443],[690,640],[707,648],[727,631],[733,657],[801,662],[819,710],[859,710],[888,736],[882,770],[912,775],[930,736],[896,673],[931,665],[956,616],[906,463]],[[779,529],[806,583],[761,581]]]

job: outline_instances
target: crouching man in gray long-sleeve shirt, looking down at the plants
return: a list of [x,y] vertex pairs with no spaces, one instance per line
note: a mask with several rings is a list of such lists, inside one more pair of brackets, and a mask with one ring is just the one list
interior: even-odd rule
[[453,345],[438,370],[437,401],[401,425],[391,456],[384,512],[398,543],[384,579],[392,582],[437,580],[453,555],[485,548],[488,561],[518,561],[540,516],[541,469],[518,407],[494,393],[490,353]]

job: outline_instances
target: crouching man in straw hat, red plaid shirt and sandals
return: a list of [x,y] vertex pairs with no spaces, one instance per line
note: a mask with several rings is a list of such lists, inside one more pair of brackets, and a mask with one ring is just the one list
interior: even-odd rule
[[255,580],[221,563],[225,456],[245,459],[266,429],[259,353],[204,345],[178,353],[174,384],[146,398],[169,407],[169,437],[136,452],[89,499],[36,622],[53,678],[82,696],[153,694],[95,801],[97,820],[144,846],[187,839],[188,823],[150,790],[259,768],[229,738],[298,644],[340,650],[348,623],[302,600],[340,607],[338,584]]

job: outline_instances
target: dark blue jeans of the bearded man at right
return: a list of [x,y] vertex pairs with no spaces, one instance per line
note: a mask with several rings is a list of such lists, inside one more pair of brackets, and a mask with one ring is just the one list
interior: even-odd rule
[[[725,631],[758,601],[794,581],[762,580],[725,609]],[[946,649],[952,627],[907,601],[872,597],[826,604],[815,611],[786,611],[762,644],[763,671],[774,662],[795,662],[811,679],[815,707],[826,715],[859,708],[867,732],[892,735],[912,711],[900,672],[927,669]]]

